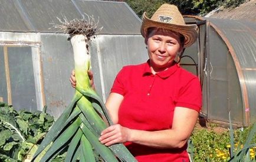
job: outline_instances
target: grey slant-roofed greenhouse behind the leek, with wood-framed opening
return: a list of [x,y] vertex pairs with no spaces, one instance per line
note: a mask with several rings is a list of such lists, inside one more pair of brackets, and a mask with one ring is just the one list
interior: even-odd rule
[[141,21],[124,2],[1,1],[0,14],[5,15],[0,18],[0,100],[15,109],[42,110],[46,105],[58,117],[74,95],[69,81],[73,51],[68,35],[54,28],[58,19],[93,16],[103,26],[90,48],[103,100],[123,65],[147,60]]

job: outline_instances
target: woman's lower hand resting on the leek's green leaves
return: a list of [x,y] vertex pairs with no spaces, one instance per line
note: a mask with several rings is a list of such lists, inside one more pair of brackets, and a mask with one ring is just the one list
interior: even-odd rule
[[99,140],[101,144],[110,146],[115,143],[124,143],[129,141],[129,136],[130,129],[122,127],[120,124],[114,124],[101,132]]

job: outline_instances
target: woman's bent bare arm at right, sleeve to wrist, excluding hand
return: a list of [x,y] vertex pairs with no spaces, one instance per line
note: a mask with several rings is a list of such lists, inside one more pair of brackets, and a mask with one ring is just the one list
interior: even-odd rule
[[176,107],[172,129],[160,131],[132,130],[130,139],[134,143],[160,148],[183,147],[195,127],[198,112],[185,107]]

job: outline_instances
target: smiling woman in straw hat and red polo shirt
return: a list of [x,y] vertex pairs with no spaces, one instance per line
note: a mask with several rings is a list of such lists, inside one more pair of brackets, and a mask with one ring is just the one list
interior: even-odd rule
[[[99,138],[124,143],[138,161],[189,161],[187,141],[201,110],[198,77],[179,67],[176,56],[196,41],[196,25],[185,25],[174,5],[163,4],[141,33],[149,60],[124,66],[106,101],[111,119]],[[71,84],[76,86],[74,73]]]

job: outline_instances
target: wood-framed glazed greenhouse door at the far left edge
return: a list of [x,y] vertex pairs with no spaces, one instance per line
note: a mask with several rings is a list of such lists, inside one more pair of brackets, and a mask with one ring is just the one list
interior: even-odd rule
[[0,46],[0,101],[15,109],[42,109],[39,48]]

